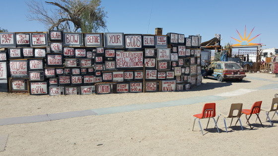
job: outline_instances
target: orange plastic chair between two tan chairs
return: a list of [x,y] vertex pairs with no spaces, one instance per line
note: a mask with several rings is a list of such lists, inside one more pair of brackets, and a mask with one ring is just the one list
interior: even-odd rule
[[[251,129],[253,129],[253,128],[252,128],[251,125],[250,125],[249,119],[250,119],[250,117],[252,116],[252,114],[256,114],[256,115],[257,115],[257,117],[258,117],[258,119],[259,119],[259,121],[260,121],[262,127],[264,127],[264,125],[262,124],[262,121],[261,121],[261,119],[260,119],[260,117],[259,117],[259,113],[260,113],[260,111],[261,111],[261,105],[262,105],[262,101],[255,102],[255,103],[252,105],[251,109],[242,109],[242,111],[241,111],[242,114],[245,114],[246,120],[247,120],[247,122],[248,122],[248,124],[249,124],[249,126],[250,126]],[[241,114],[241,115],[242,115],[242,114]],[[250,115],[249,118],[247,118],[247,115]],[[238,119],[237,119],[237,121],[238,121]],[[236,121],[236,123],[237,123],[237,121]],[[235,123],[235,124],[236,124],[236,123]]]

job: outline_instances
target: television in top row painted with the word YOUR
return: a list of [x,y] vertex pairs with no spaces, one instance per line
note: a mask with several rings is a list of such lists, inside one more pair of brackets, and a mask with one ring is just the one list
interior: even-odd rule
[[125,48],[124,33],[105,33],[105,48]]

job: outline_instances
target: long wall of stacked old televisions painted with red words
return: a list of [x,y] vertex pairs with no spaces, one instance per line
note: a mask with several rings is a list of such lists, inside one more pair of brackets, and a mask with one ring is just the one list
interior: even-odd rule
[[0,92],[187,91],[202,83],[200,43],[178,33],[0,33]]

